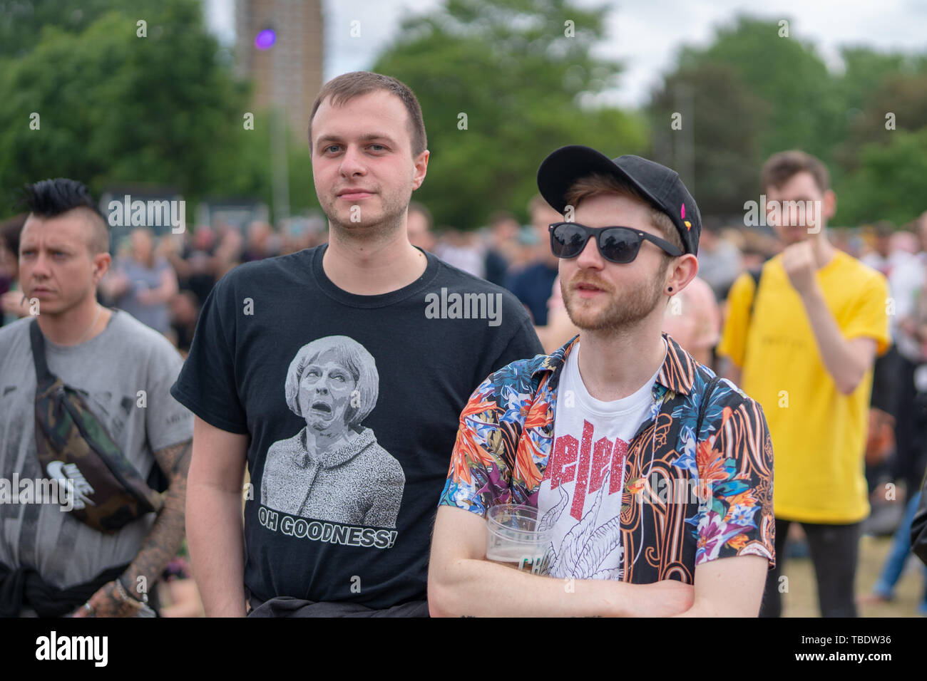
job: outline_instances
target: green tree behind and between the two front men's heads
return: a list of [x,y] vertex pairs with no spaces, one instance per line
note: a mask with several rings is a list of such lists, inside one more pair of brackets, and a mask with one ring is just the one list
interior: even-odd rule
[[498,208],[525,217],[558,146],[641,153],[644,121],[591,101],[620,72],[590,55],[603,37],[603,9],[567,0],[449,0],[402,24],[373,70],[422,105],[431,158],[415,198],[438,224],[469,229]]

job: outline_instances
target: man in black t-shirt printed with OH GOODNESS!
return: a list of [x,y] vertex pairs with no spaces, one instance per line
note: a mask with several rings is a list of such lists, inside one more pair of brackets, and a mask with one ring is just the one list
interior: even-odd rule
[[[435,506],[480,381],[541,347],[518,301],[409,243],[428,151],[402,83],[310,119],[330,240],[230,271],[171,394],[196,414],[187,536],[209,615],[421,615]],[[241,484],[246,460],[244,534]]]

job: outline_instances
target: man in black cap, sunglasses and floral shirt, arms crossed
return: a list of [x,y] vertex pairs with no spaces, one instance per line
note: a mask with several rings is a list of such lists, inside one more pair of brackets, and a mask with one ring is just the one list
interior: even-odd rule
[[[673,170],[585,146],[554,151],[538,186],[570,220],[551,247],[580,334],[490,374],[461,414],[431,614],[756,616],[775,564],[763,410],[660,332],[698,270],[692,195]],[[487,560],[483,518],[502,504],[547,533],[521,570]]]

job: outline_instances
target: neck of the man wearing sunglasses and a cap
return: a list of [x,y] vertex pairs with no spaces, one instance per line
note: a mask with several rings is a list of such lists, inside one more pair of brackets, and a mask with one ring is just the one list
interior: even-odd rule
[[620,332],[579,333],[579,376],[592,397],[611,402],[633,395],[663,366],[662,320],[652,314]]

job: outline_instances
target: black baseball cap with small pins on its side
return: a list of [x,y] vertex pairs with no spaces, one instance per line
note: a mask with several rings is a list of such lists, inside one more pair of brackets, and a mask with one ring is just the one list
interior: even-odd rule
[[695,199],[676,170],[646,158],[626,155],[612,159],[589,146],[561,146],[541,161],[538,169],[540,195],[554,210],[563,213],[566,192],[573,183],[592,172],[614,175],[636,187],[654,208],[666,213],[676,225],[683,250],[692,254],[698,252],[702,215]]

